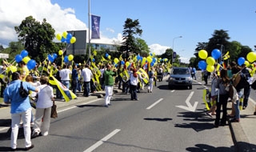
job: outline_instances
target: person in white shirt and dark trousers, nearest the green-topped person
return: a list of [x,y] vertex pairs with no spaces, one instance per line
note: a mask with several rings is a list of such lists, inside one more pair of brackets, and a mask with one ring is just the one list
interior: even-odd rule
[[81,71],[81,77],[83,79],[83,96],[88,97],[90,93],[90,78],[93,78],[94,75],[89,69],[89,65],[86,64],[85,68]]

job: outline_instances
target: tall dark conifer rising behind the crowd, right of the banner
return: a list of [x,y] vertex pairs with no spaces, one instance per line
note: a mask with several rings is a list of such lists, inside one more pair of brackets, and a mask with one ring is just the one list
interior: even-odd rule
[[130,18],[126,19],[125,25],[123,26],[124,30],[122,31],[123,42],[122,46],[120,47],[121,51],[126,50],[126,59],[128,58],[128,52],[136,52],[139,50],[138,46],[136,45],[136,40],[134,35],[142,35],[142,30],[140,29],[140,25],[138,19],[134,21]]

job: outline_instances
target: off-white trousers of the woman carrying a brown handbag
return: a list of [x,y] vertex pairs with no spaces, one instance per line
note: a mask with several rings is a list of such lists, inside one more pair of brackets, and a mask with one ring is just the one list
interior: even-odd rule
[[36,109],[33,127],[35,132],[41,132],[42,135],[48,134],[50,129],[50,112],[51,107]]

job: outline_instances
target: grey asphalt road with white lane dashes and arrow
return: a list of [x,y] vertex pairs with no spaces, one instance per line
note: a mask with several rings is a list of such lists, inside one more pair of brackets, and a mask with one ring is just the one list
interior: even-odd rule
[[[32,139],[31,151],[234,151],[229,126],[214,128],[205,114],[203,89],[194,82],[192,90],[168,90],[163,81],[153,93],[139,93],[139,101],[115,94],[108,108],[103,99],[66,107],[52,119],[48,136]],[[0,146],[10,145],[9,135]]]

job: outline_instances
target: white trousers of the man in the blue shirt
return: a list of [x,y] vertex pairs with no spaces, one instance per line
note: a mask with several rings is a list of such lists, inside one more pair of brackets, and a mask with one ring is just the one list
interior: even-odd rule
[[11,135],[10,135],[10,147],[13,149],[17,148],[17,138],[18,138],[18,126],[19,122],[23,122],[23,130],[25,136],[25,147],[31,146],[31,129],[30,129],[30,119],[31,119],[31,108],[25,112],[18,114],[11,114]]

